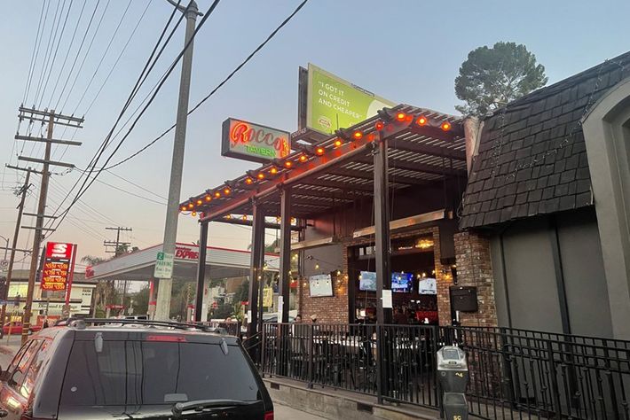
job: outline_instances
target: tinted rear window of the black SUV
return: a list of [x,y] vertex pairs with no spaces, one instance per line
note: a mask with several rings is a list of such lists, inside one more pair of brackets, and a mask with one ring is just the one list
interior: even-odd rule
[[224,354],[217,344],[106,340],[99,352],[96,348],[93,340],[75,341],[61,405],[261,399],[256,378],[238,346],[229,346]]

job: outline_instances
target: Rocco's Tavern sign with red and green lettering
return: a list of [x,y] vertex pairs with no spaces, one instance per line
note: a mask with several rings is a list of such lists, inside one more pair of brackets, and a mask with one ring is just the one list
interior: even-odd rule
[[221,155],[267,162],[291,152],[291,133],[252,122],[228,118],[223,122]]

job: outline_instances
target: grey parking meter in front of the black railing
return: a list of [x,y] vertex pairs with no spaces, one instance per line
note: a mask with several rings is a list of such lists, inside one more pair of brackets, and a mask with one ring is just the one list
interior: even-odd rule
[[466,420],[469,417],[466,403],[466,385],[469,366],[466,354],[458,346],[444,346],[437,351],[437,377],[444,392],[444,410],[447,420]]

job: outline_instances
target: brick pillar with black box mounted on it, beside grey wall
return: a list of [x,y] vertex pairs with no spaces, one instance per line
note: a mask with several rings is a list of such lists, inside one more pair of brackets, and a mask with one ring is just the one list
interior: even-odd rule
[[476,313],[461,312],[460,322],[464,326],[496,326],[490,240],[471,231],[455,234],[454,240],[457,284],[476,286],[479,305]]

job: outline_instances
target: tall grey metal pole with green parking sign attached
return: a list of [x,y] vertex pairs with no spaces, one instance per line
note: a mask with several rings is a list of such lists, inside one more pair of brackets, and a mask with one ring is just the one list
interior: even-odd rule
[[[188,118],[188,101],[190,97],[190,79],[193,68],[193,34],[197,16],[202,13],[197,9],[197,4],[191,0],[187,8],[178,6],[169,0],[186,14],[186,31],[184,45],[190,43],[182,58],[182,74],[179,80],[179,100],[177,103],[177,120],[175,127],[175,140],[173,142],[173,159],[170,165],[169,201],[166,206],[166,222],[164,223],[164,242],[162,252],[165,259],[175,255],[175,242],[177,240],[177,218],[179,217],[179,198],[182,188],[182,170],[184,168],[184,150],[186,139],[186,122]],[[166,321],[169,319],[170,295],[173,287],[172,275],[168,278],[155,279],[158,284],[157,304],[155,307],[155,319]],[[153,300],[153,296],[149,301]]]

